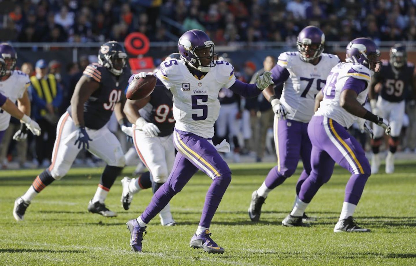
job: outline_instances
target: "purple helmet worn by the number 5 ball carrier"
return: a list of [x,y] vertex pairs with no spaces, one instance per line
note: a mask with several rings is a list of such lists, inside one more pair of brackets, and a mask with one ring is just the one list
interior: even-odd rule
[[217,64],[214,46],[214,42],[202,30],[188,30],[178,41],[181,58],[202,72],[210,71]]

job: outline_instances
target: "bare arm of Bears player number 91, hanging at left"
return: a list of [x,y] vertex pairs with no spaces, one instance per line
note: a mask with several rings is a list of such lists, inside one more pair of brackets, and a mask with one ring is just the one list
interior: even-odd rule
[[99,88],[100,84],[93,79],[82,76],[77,85],[75,85],[74,94],[71,98],[72,120],[75,126],[84,127],[84,103],[94,91]]

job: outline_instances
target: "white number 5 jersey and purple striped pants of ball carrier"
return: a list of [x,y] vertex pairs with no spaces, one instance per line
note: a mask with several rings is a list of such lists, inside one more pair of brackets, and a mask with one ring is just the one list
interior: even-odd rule
[[231,171],[212,144],[214,123],[218,118],[218,92],[230,88],[245,97],[258,96],[255,84],[235,79],[233,66],[218,61],[205,75],[194,76],[183,60],[171,59],[161,63],[156,77],[173,94],[173,117],[176,120],[173,142],[178,153],[165,184],[154,194],[141,214],[145,223],[158,214],[169,200],[180,192],[198,169],[212,180],[202,211],[201,227],[209,228],[216,209],[231,181]]

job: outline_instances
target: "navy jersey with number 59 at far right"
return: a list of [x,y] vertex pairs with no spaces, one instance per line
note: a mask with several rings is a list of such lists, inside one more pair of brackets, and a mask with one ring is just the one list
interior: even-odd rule
[[383,60],[378,73],[374,74],[376,83],[381,82],[381,98],[390,102],[403,101],[409,93],[409,86],[414,76],[414,64],[408,62],[401,69],[394,68],[389,61]]

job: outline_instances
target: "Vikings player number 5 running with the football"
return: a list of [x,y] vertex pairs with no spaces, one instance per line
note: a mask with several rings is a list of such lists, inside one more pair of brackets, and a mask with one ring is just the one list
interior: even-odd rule
[[[223,253],[224,249],[211,239],[209,230],[231,181],[230,168],[218,153],[229,152],[230,146],[224,141],[215,147],[211,140],[220,109],[218,92],[227,88],[244,97],[255,97],[273,81],[268,71],[257,78],[256,84],[236,80],[230,63],[215,60],[214,43],[201,30],[189,30],[182,34],[178,49],[181,59],[162,62],[156,72],[157,79],[173,94],[173,117],[176,120],[173,142],[178,153],[168,180],[156,191],[144,212],[137,219],[127,222],[131,234],[130,246],[134,251],[142,250],[147,224],[200,169],[212,179],[212,184],[190,246],[210,253]],[[139,123],[136,127],[144,125]]]

